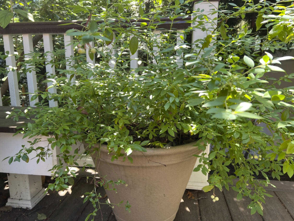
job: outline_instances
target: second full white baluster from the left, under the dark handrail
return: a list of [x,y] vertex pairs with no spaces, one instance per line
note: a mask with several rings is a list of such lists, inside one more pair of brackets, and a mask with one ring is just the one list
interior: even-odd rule
[[[24,56],[26,58],[31,58],[32,55],[27,55],[27,54],[34,53],[32,35],[31,34],[23,34],[22,39],[23,39],[23,44],[24,44],[24,54],[25,54]],[[29,64],[26,67],[31,68],[31,69],[35,68],[35,66],[33,64]],[[31,101],[31,97],[35,94],[35,91],[38,90],[36,71],[31,70],[30,72],[27,72],[26,78],[28,80],[30,106],[34,107],[35,103],[39,102],[38,98]],[[38,92],[36,92],[36,93],[38,93]]]

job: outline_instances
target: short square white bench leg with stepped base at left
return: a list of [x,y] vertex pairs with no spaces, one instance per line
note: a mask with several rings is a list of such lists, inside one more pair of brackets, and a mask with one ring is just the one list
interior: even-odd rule
[[10,197],[6,206],[32,209],[44,196],[40,175],[7,174]]

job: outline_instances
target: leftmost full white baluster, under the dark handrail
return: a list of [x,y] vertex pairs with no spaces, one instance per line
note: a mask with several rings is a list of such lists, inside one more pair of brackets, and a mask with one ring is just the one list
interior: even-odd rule
[[[5,52],[9,51],[9,56],[6,58],[6,65],[8,66],[7,69],[10,70],[11,68],[14,68],[16,70],[15,56],[13,55],[14,45],[13,45],[12,35],[4,34],[3,42],[4,42],[4,51]],[[9,84],[11,106],[20,106],[18,79],[17,79],[16,71],[10,70],[8,72],[8,84]]]

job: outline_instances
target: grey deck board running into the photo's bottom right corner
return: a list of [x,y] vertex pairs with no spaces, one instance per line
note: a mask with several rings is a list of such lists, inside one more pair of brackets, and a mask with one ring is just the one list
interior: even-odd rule
[[[264,221],[293,221],[290,214],[281,204],[275,192],[267,191],[266,193],[273,197],[265,197],[265,204],[263,204],[263,220]],[[276,211],[279,211],[277,213]]]

